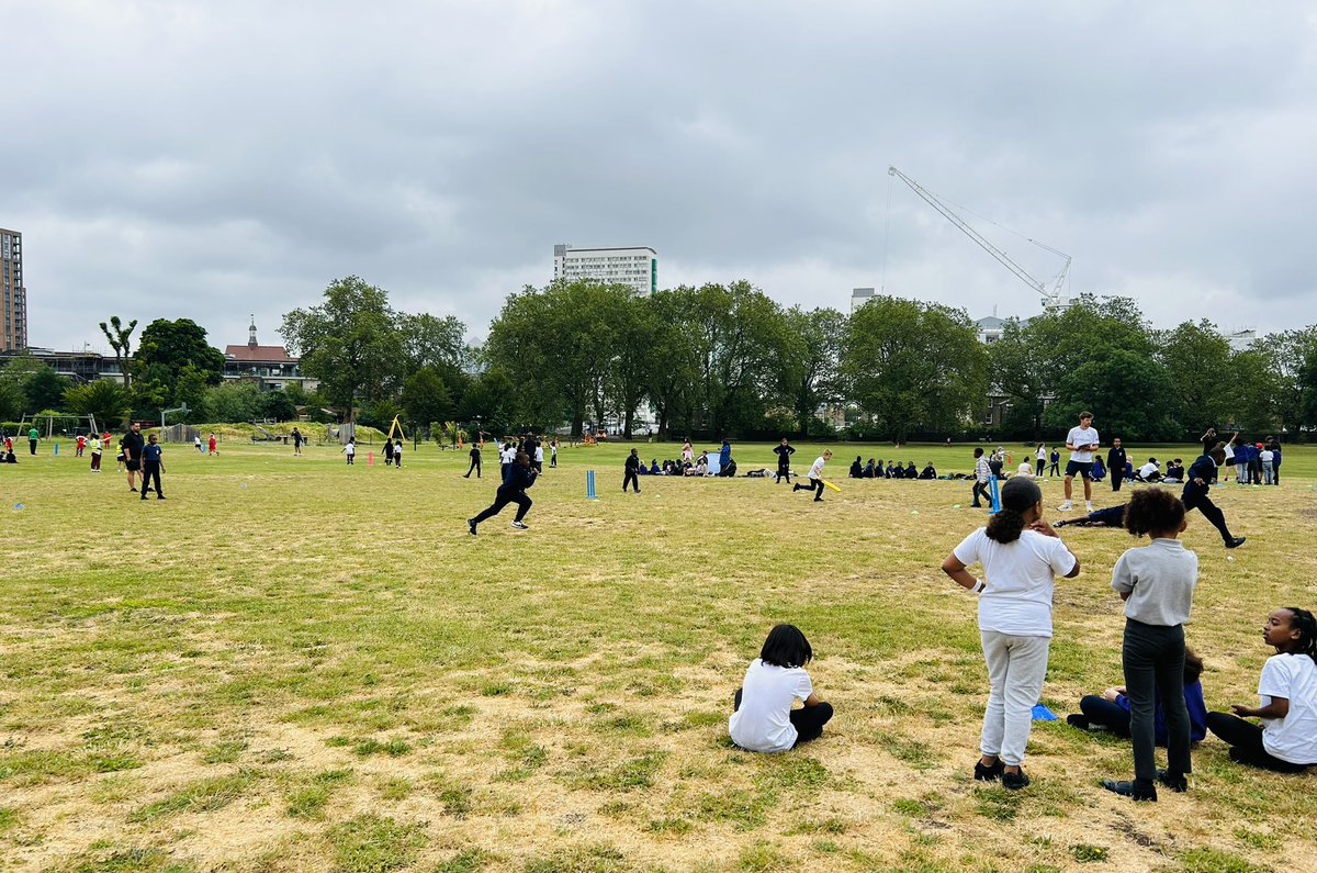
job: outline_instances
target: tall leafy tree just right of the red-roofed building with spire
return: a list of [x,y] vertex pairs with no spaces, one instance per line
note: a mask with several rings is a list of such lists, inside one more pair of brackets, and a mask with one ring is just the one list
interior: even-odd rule
[[302,356],[302,371],[350,419],[358,400],[389,400],[402,382],[406,355],[395,320],[383,289],[349,276],[331,282],[319,306],[286,314],[279,332]]

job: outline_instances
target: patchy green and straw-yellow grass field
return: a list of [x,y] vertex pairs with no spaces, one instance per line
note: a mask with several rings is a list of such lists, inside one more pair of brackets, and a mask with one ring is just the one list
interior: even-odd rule
[[[435,447],[398,471],[171,446],[165,502],[112,456],[94,476],[41,451],[0,468],[3,870],[1314,869],[1317,777],[1243,770],[1213,738],[1155,806],[1101,790],[1131,771],[1123,742],[1064,723],[1035,725],[1029,790],[971,779],[986,679],[973,597],[938,566],[984,516],[964,483],[846,480],[856,454],[968,472],[964,446],[838,447],[823,504],[755,479],[623,496],[626,447],[564,448],[531,530],[510,509],[478,538],[497,471],[462,479]],[[1272,608],[1317,603],[1317,451],[1283,472],[1216,493],[1249,537],[1234,560],[1191,516],[1210,708],[1254,699]],[[1063,535],[1084,572],[1058,584],[1058,713],[1121,680],[1109,580],[1133,545]],[[817,744],[741,753],[731,696],[777,621],[809,634],[838,715]]]

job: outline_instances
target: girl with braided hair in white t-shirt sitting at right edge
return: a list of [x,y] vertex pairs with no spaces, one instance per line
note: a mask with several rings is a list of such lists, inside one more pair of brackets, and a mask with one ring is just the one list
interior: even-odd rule
[[[1230,744],[1230,760],[1279,773],[1317,765],[1317,618],[1285,607],[1267,617],[1262,638],[1276,654],[1258,682],[1258,707],[1209,712],[1208,729]],[[1262,727],[1243,717],[1262,719]]]

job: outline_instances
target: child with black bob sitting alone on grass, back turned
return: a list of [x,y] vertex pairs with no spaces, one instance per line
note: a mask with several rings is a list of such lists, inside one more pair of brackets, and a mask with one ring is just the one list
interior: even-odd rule
[[[823,735],[832,706],[818,699],[805,665],[814,658],[810,641],[795,625],[777,625],[745,670],[732,699],[727,732],[747,752],[786,752]],[[793,709],[802,700],[805,706]]]

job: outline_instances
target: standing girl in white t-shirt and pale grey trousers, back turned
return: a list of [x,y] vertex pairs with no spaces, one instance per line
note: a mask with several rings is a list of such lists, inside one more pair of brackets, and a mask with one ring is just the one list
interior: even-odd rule
[[[967,567],[982,564],[984,579]],[[1001,512],[942,562],[942,571],[979,595],[979,636],[988,663],[988,706],[975,779],[1018,790],[1033,709],[1043,692],[1052,638],[1056,575],[1073,579],[1079,560],[1043,521],[1043,492],[1017,476],[1001,489]]]

